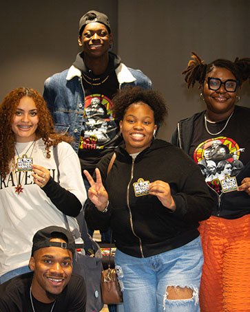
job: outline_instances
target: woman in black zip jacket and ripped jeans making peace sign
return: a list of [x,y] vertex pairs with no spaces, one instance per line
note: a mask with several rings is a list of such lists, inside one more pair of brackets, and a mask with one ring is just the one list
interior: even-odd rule
[[156,140],[167,115],[158,92],[123,89],[113,104],[124,143],[101,159],[94,179],[84,171],[87,223],[113,231],[125,312],[199,311],[197,227],[213,206],[203,176],[180,148]]

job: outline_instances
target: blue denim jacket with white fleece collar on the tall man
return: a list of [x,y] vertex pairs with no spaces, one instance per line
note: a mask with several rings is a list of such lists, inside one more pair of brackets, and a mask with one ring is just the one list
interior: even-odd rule
[[[121,63],[115,71],[119,89],[125,85],[152,89],[151,80],[138,69],[128,68]],[[81,71],[72,65],[70,69],[46,79],[43,98],[52,113],[56,131],[68,132],[72,135],[75,139],[72,146],[78,153],[85,108],[85,91]]]

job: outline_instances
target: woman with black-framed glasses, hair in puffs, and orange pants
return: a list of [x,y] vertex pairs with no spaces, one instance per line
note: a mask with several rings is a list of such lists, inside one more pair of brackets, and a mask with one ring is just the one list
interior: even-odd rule
[[[178,122],[171,143],[196,163],[205,159],[209,148],[216,166],[222,159],[231,164],[232,155],[243,164],[241,170],[206,180],[216,205],[199,227],[205,260],[200,309],[250,311],[250,109],[236,105],[238,89],[250,77],[250,58],[206,64],[192,54],[183,74],[187,87],[198,82],[206,109]],[[222,147],[225,153],[219,153]]]

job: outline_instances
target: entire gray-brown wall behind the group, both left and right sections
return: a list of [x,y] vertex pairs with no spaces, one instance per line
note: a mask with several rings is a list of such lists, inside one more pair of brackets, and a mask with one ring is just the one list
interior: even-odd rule
[[[178,120],[205,108],[181,75],[190,52],[208,63],[250,56],[249,0],[1,1],[0,100],[20,86],[42,92],[45,78],[70,67],[79,19],[91,9],[110,17],[113,51],[123,63],[141,69],[167,99],[169,118],[159,133],[166,140]],[[250,107],[248,83],[240,95],[239,104]]]

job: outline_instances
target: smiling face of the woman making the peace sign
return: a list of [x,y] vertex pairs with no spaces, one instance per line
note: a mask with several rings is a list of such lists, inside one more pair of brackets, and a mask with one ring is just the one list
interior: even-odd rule
[[143,102],[129,105],[123,120],[120,121],[120,129],[127,153],[143,151],[151,144],[157,129],[154,124],[154,111]]

